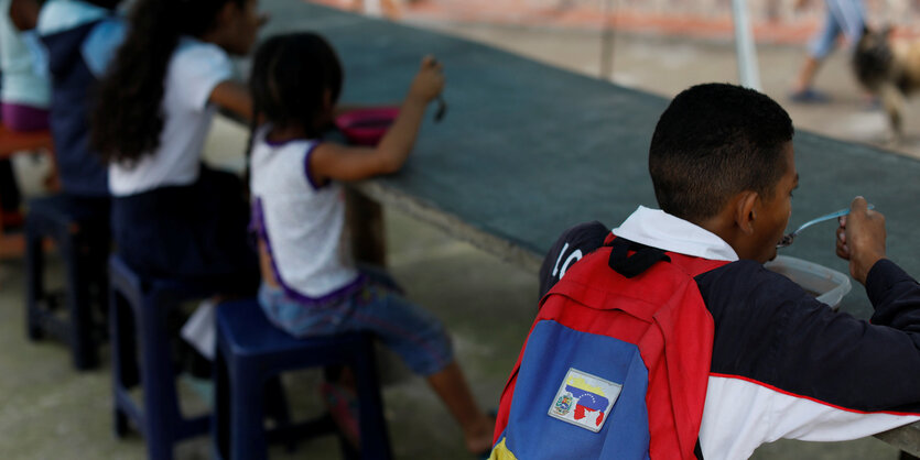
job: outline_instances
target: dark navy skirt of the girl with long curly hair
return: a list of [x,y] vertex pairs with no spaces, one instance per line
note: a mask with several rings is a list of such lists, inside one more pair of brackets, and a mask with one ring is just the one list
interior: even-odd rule
[[116,251],[144,276],[206,283],[221,294],[258,291],[249,206],[232,174],[202,166],[195,184],[115,197],[111,218]]

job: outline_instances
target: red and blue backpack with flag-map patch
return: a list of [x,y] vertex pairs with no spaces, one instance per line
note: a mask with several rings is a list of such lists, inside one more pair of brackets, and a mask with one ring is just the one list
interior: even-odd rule
[[713,343],[694,276],[724,265],[608,233],[543,296],[491,459],[692,459]]

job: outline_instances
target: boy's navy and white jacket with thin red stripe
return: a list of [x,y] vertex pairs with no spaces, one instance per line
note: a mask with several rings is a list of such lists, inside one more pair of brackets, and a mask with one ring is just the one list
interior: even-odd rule
[[[920,285],[894,262],[869,271],[875,314],[865,321],[831,310],[782,275],[738,260],[715,234],[663,211],[639,207],[613,232],[730,261],[695,278],[715,321],[702,458],[748,458],[780,438],[856,439],[920,419]],[[541,269],[541,296],[607,234],[599,222],[566,231]]]

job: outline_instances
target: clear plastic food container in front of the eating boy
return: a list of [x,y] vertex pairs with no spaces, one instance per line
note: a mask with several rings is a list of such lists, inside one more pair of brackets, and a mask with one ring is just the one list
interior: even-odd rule
[[819,302],[831,306],[833,310],[840,308],[843,296],[852,287],[849,276],[824,265],[788,255],[777,255],[764,266],[792,280],[805,292],[814,295]]

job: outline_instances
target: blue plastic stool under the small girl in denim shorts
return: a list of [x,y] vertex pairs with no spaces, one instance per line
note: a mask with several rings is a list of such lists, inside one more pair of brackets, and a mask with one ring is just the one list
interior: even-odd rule
[[[372,337],[343,333],[327,338],[295,339],[272,326],[255,299],[217,307],[217,355],[215,358],[214,442],[218,458],[264,459],[267,439],[262,395],[266,382],[282,372],[309,368],[347,365],[355,372],[359,401],[360,452],[362,458],[390,459],[390,441],[377,380]],[[323,419],[297,428],[282,428],[309,438],[329,432]],[[345,448],[345,446],[344,446]],[[348,451],[346,450],[346,456]]]

